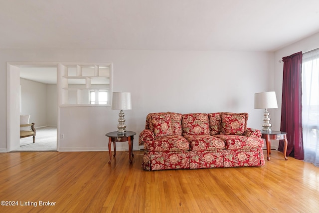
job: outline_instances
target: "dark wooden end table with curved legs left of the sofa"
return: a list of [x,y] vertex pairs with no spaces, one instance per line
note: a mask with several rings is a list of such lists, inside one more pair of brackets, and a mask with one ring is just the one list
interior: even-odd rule
[[109,132],[106,133],[105,136],[109,137],[109,153],[110,153],[110,161],[109,164],[111,164],[112,161],[112,150],[111,150],[111,144],[113,142],[113,147],[114,147],[114,158],[116,154],[116,146],[115,142],[128,142],[129,143],[129,161],[132,164],[131,160],[131,155],[134,157],[133,154],[133,140],[134,140],[134,135],[136,135],[136,132],[132,131],[126,131],[125,135],[119,135],[118,132]]

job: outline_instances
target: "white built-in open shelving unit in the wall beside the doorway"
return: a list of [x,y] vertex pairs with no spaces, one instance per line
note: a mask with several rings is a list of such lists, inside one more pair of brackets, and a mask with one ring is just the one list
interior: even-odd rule
[[112,63],[59,64],[59,106],[110,106]]

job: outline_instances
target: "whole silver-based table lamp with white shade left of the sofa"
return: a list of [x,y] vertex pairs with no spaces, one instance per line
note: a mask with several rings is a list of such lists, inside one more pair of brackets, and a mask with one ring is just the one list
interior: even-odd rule
[[123,110],[132,109],[130,92],[113,92],[112,109],[119,109],[118,135],[126,135],[126,124]]

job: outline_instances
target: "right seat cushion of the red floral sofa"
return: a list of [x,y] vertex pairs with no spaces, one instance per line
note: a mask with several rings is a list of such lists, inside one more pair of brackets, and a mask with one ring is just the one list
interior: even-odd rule
[[241,135],[214,135],[225,142],[226,149],[256,149],[264,147],[264,140],[261,138],[246,137]]

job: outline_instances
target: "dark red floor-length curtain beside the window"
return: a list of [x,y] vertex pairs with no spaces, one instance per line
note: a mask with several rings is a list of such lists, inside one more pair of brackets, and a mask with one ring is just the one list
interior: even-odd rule
[[[302,67],[303,54],[298,52],[284,57],[283,96],[280,131],[287,132],[287,156],[304,160],[302,130]],[[284,142],[279,142],[279,151]]]

